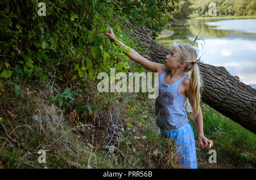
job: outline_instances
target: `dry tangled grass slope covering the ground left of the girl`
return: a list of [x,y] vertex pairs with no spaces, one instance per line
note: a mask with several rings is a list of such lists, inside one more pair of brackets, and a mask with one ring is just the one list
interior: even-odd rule
[[[5,168],[182,168],[172,144],[157,132],[154,104],[147,95],[99,94],[95,84],[84,84],[89,91],[81,92],[72,110],[64,111],[56,103],[48,104],[46,97],[54,95],[51,87],[23,84],[15,95],[13,83],[5,83],[0,97],[7,131],[0,128]],[[134,106],[144,108],[133,110]],[[147,123],[139,125],[146,114]],[[39,164],[39,149],[47,151],[47,164]]]

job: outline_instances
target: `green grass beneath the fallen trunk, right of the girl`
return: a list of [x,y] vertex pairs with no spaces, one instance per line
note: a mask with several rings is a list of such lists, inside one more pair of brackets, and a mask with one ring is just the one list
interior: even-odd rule
[[[208,105],[201,106],[204,117],[204,135],[213,140],[218,164],[226,166],[228,163],[226,160],[229,158],[232,159],[236,167],[243,167],[244,163],[255,165],[255,134],[224,117]],[[197,139],[195,122],[191,121],[191,125],[195,131],[195,139]]]

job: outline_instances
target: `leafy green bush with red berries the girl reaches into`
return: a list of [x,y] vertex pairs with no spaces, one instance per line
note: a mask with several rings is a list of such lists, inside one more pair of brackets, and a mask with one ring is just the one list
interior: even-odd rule
[[[52,78],[49,72],[61,83],[67,71],[73,71],[73,79],[94,79],[95,70],[106,71],[113,66],[118,70],[129,68],[125,55],[105,36],[112,27],[118,38],[135,45],[122,35],[122,19],[114,18],[119,11],[113,3],[44,1],[46,16],[38,15],[38,3],[38,0],[9,0],[0,8],[1,78],[43,82]],[[115,57],[124,62],[118,63]]]

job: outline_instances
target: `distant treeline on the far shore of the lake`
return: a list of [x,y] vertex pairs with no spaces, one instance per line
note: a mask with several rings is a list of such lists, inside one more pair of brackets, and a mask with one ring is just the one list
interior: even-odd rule
[[[245,16],[256,14],[256,0],[187,0],[180,2],[177,19],[209,17],[210,3],[216,4],[216,16]],[[184,7],[184,8],[183,8]],[[184,11],[183,11],[184,10]]]

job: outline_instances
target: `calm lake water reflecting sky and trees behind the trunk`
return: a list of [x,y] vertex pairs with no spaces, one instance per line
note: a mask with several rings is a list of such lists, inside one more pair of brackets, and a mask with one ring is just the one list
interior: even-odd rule
[[[256,19],[193,19],[167,30],[174,34],[156,40],[167,48],[176,39],[191,42],[200,32],[205,42],[204,48],[199,47],[203,61],[224,66],[241,82],[256,88]],[[199,42],[203,44],[203,40]]]

